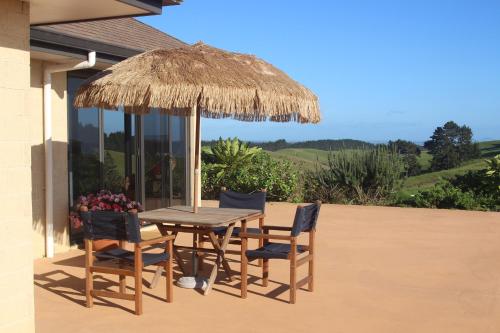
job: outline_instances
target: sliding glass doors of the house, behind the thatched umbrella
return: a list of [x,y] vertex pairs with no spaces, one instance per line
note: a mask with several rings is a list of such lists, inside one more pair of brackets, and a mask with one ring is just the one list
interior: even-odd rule
[[68,73],[71,207],[80,195],[99,190],[125,193],[146,210],[185,204],[186,118],[157,110],[135,116],[121,110],[75,109],[71,101],[86,77],[85,72]]

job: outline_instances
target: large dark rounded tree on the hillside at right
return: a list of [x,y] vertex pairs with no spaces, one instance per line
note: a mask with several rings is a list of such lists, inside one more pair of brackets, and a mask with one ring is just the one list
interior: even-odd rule
[[472,142],[470,127],[459,126],[453,121],[437,127],[424,147],[432,155],[432,170],[451,169],[480,156],[479,147]]

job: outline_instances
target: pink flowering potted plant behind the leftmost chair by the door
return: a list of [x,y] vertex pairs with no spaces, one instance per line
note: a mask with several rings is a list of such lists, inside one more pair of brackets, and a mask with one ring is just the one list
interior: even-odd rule
[[[109,212],[115,212],[121,215],[124,212],[129,214],[137,214],[142,211],[141,204],[137,201],[130,200],[125,194],[111,193],[110,191],[100,191],[96,194],[90,193],[82,195],[78,198],[75,206],[75,212],[70,216],[73,227],[80,228],[82,226],[81,212],[107,212],[105,215],[109,216]],[[109,239],[99,239],[93,241],[93,249],[102,251],[118,246],[118,241]]]

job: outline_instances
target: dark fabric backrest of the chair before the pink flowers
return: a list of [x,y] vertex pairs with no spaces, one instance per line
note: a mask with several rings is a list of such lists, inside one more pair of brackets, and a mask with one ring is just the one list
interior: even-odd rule
[[80,212],[80,216],[86,239],[126,240],[130,243],[141,241],[137,214],[89,211]]

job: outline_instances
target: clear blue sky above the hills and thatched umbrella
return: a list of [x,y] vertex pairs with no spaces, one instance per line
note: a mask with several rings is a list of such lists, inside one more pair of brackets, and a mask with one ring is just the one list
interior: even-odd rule
[[204,139],[420,142],[448,120],[500,138],[500,1],[185,0],[141,20],[255,54],[320,99],[319,125],[204,119]]

